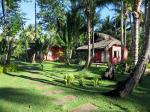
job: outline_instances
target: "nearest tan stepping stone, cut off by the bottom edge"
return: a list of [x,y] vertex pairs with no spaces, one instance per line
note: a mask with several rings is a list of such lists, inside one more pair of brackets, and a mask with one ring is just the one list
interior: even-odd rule
[[97,107],[93,104],[87,103],[84,105],[81,105],[75,109],[73,109],[70,112],[93,112],[97,109]]

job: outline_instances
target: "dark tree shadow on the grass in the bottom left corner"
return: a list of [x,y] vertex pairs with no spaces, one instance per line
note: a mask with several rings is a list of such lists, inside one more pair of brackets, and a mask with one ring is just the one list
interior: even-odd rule
[[0,99],[8,102],[29,105],[42,105],[41,99],[46,97],[33,94],[31,91],[21,88],[0,88]]

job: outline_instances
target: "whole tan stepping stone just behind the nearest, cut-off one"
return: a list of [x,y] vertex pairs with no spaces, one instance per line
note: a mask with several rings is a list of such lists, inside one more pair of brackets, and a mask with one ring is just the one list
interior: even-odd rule
[[75,99],[76,99],[76,96],[69,95],[69,96],[65,96],[63,98],[57,99],[56,101],[54,101],[54,104],[63,106],[66,103],[68,103],[68,102],[70,102],[72,100],[75,100]]

